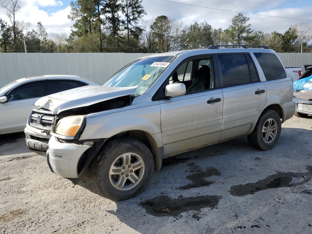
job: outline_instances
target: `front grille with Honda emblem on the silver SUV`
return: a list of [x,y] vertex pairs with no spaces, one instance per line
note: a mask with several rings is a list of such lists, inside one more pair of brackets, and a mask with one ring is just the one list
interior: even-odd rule
[[[39,116],[39,118],[38,118]],[[32,114],[29,120],[29,124],[32,127],[35,127],[37,129],[41,130],[51,130],[51,124],[52,120],[55,117],[55,115],[52,115],[52,111],[45,110],[45,109],[34,109],[32,110]],[[38,121],[39,120],[39,121]]]

